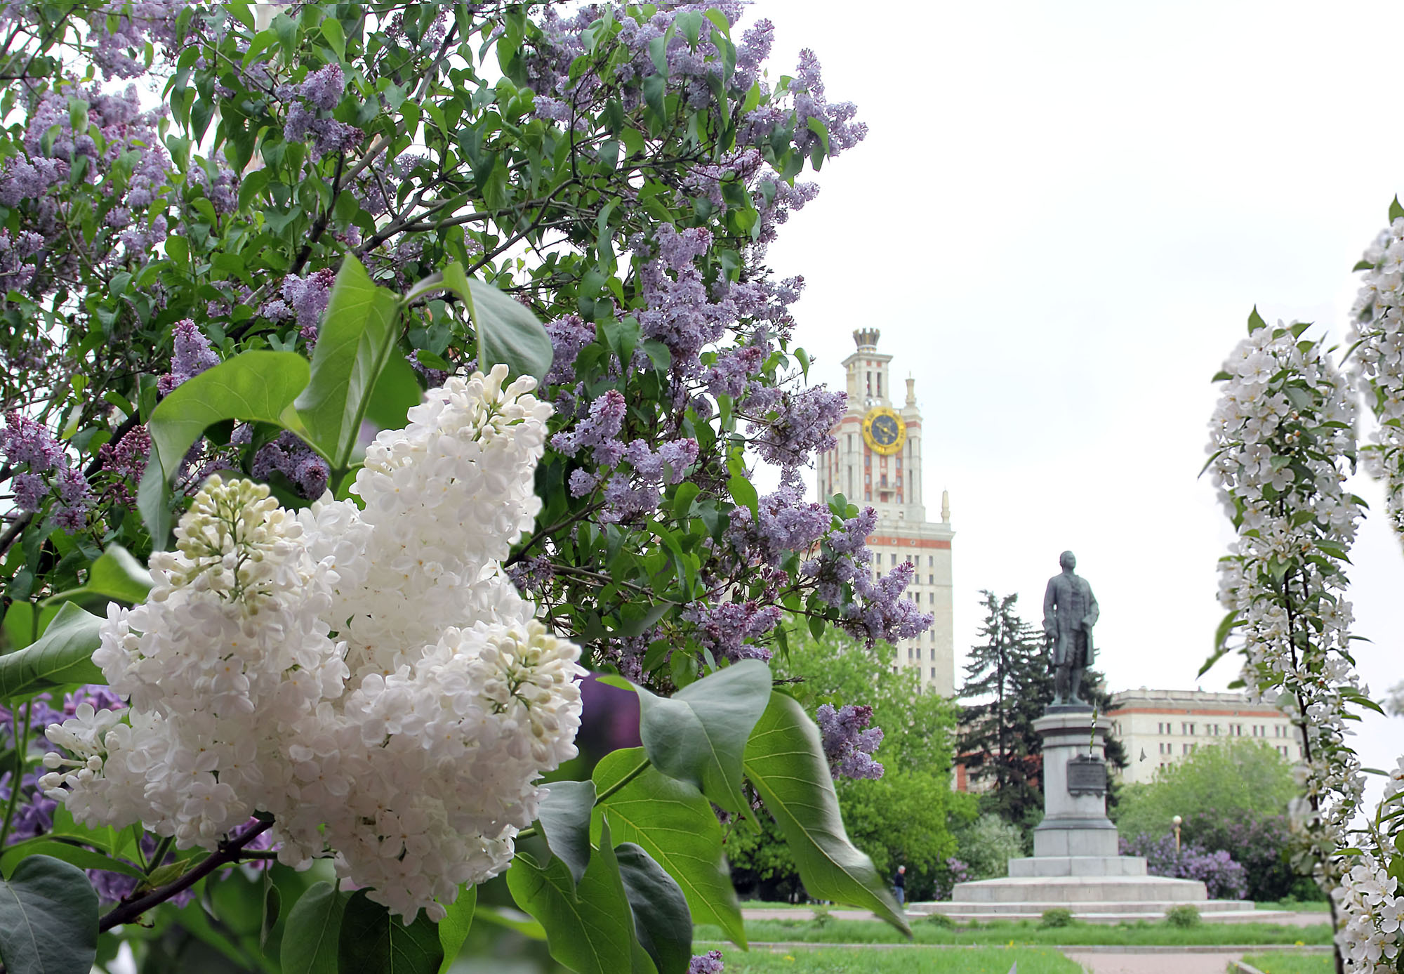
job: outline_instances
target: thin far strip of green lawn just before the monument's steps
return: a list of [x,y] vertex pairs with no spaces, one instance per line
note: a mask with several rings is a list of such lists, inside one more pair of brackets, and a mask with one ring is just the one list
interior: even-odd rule
[[[1192,928],[1165,922],[1073,923],[1042,929],[1038,923],[997,922],[949,929],[927,919],[915,919],[911,930],[917,943],[928,945],[1118,945],[1118,946],[1220,946],[1254,943],[1331,943],[1327,923],[1285,926],[1279,923],[1200,923]],[[746,935],[760,943],[906,943],[897,930],[876,921],[828,919],[823,923],[806,918],[753,919]],[[722,940],[716,926],[698,926],[698,940]],[[1008,968],[1005,968],[1008,970]]]

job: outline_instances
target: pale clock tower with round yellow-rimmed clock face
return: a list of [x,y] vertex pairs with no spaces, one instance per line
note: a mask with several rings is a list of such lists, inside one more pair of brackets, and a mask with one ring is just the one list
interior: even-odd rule
[[915,667],[922,688],[955,695],[955,633],[951,588],[951,504],[941,494],[941,519],[928,521],[922,502],[921,411],[915,380],[907,379],[897,406],[892,355],[878,351],[878,328],[854,331],[858,351],[844,359],[848,410],[834,427],[838,445],[819,458],[819,494],[842,494],[878,511],[868,536],[875,575],[901,561],[914,566],[907,598],[934,616],[931,629],[897,644],[899,667]]

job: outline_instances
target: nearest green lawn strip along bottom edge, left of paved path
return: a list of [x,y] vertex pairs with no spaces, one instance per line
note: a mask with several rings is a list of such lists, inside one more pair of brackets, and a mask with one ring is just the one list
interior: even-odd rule
[[695,952],[720,950],[726,974],[1008,974],[1016,963],[1019,974],[1082,974],[1082,968],[1056,950],[1036,947],[986,947],[983,950],[941,950],[924,947],[858,949],[796,947],[793,950],[753,949],[747,953],[729,943],[696,943]]

